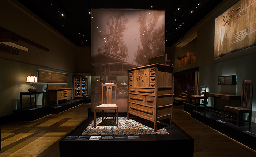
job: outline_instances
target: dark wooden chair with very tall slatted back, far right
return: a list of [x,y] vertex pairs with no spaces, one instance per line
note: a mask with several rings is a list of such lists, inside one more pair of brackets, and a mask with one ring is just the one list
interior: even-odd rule
[[[228,118],[230,118],[230,112],[237,115],[237,126],[239,122],[249,122],[251,125],[252,121],[252,89],[253,89],[253,79],[252,80],[243,80],[242,83],[242,95],[240,107],[234,106],[223,106],[223,116],[222,119],[225,120],[225,111],[228,111]],[[243,113],[248,113],[248,120],[240,121]]]

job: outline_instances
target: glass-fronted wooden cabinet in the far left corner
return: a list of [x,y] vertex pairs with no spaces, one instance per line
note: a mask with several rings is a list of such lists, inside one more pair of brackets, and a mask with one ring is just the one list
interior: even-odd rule
[[88,94],[88,77],[74,76],[74,97],[82,97]]

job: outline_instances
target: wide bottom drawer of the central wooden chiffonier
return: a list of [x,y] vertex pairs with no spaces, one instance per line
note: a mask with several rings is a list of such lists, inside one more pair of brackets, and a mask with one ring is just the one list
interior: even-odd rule
[[[151,107],[146,107],[142,105],[137,105],[133,103],[129,103],[129,111],[133,112],[134,114],[139,114],[144,117],[154,119],[154,108]],[[133,114],[132,113],[132,114]]]

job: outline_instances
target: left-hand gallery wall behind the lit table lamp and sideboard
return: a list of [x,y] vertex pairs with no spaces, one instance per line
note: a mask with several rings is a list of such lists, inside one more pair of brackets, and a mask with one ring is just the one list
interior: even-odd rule
[[[28,52],[12,55],[0,51],[0,117],[11,115],[13,110],[20,108],[20,92],[27,92],[31,86],[26,83],[26,77],[30,74],[38,77],[38,70],[68,74],[66,88],[73,88],[74,73],[90,74],[90,48],[78,50],[16,0],[0,1],[0,19],[0,27],[49,49],[47,52],[19,41],[17,44],[27,47]],[[37,91],[45,91],[47,84],[53,83],[34,83],[34,86]],[[28,96],[23,100],[24,106],[30,106]],[[37,104],[42,104],[42,95],[38,95]]]

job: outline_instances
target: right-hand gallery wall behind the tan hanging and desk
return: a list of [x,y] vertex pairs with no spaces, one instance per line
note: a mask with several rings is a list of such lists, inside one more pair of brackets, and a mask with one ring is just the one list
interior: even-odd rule
[[[213,11],[211,11],[204,19],[202,19],[195,27],[193,27],[185,36],[189,37],[193,32],[197,31],[196,38],[196,62],[174,69],[174,72],[199,67],[198,87],[200,85],[207,86],[207,92],[210,93],[229,93],[241,95],[242,80],[256,79],[256,73],[253,69],[256,60],[256,46],[239,50],[223,57],[214,59],[214,30],[215,18],[226,11],[236,1],[224,0]],[[182,42],[182,41],[181,41]],[[177,42],[172,46],[172,51],[175,53],[175,61],[180,57],[180,48],[176,46]],[[191,47],[193,49],[193,47]],[[185,53],[185,52],[184,52]],[[234,86],[219,86],[218,76],[236,75],[237,82]],[[254,83],[254,91],[256,83]],[[213,99],[210,99],[212,105]],[[256,92],[253,92],[253,122],[256,118]]]

